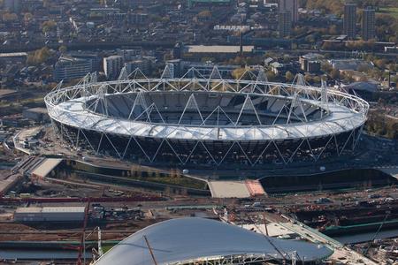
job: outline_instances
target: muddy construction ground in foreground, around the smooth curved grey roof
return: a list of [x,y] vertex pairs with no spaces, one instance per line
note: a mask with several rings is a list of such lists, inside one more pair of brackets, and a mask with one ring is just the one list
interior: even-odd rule
[[[52,132],[46,126],[22,129],[7,148],[2,147],[0,258],[4,262],[101,261],[113,246],[145,227],[184,217],[231,223],[267,239],[322,244],[331,252],[319,254],[317,261],[302,261],[291,253],[279,254],[277,247],[279,260],[262,256],[258,264],[396,261],[394,166],[307,176],[300,169],[292,174],[292,169],[281,168],[279,177],[231,179],[231,172],[203,177],[200,170],[76,155],[57,143]],[[149,244],[156,245],[150,236]]]

